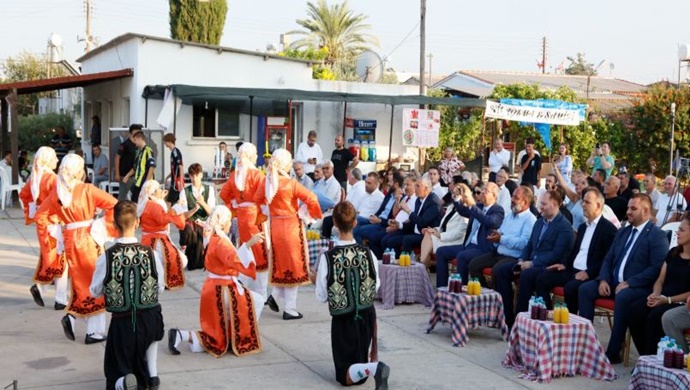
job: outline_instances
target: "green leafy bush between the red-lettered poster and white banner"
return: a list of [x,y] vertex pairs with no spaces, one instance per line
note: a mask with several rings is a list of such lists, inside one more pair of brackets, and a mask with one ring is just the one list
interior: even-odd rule
[[[447,94],[440,89],[430,89],[427,95],[447,97]],[[456,106],[432,105],[429,109],[441,112],[441,126],[438,147],[428,148],[427,158],[430,161],[440,161],[443,149],[450,146],[461,160],[473,160],[481,147],[482,110],[474,109],[469,117],[464,117]]]

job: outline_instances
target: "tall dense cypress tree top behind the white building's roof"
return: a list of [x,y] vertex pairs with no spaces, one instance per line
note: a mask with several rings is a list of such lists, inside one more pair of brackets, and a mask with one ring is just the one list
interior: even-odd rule
[[220,44],[228,13],[227,0],[169,0],[169,4],[172,39]]

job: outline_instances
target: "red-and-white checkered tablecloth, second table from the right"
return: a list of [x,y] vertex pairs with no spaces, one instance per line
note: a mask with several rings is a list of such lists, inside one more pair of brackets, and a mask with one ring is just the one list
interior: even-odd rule
[[538,382],[575,375],[607,381],[618,378],[592,323],[574,314],[568,324],[556,324],[519,313],[503,366],[521,371],[523,379]]

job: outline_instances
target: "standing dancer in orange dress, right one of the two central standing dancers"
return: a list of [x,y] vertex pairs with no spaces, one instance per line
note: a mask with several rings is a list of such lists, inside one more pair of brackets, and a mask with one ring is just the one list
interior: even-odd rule
[[[290,152],[276,149],[264,183],[254,194],[254,202],[262,205],[262,211],[269,216],[269,283],[273,286],[273,295],[285,301],[284,320],[302,318],[297,311],[297,291],[299,286],[310,283],[307,236],[302,219],[323,218],[316,195],[290,178],[291,166]],[[303,203],[299,208],[298,200]]]

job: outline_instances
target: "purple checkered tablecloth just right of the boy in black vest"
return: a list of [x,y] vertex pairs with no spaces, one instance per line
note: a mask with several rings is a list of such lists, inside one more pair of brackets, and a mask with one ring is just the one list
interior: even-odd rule
[[426,267],[421,263],[401,267],[379,261],[379,279],[381,286],[376,299],[383,301],[386,310],[394,308],[396,303],[419,302],[428,307],[434,302],[434,288]]

